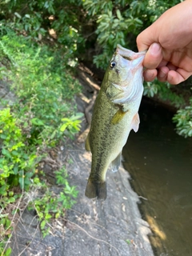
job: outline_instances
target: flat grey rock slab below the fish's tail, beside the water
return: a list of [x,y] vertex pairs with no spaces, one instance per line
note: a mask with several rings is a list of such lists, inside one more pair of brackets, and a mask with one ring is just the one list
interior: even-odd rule
[[67,212],[70,226],[66,226],[66,254],[154,255],[147,237],[150,228],[141,218],[139,198],[130,187],[126,170],[122,167],[117,173],[108,170],[106,201],[85,197],[90,153],[83,147],[70,151],[76,161],[70,166],[70,184],[77,186],[79,194],[77,204]]

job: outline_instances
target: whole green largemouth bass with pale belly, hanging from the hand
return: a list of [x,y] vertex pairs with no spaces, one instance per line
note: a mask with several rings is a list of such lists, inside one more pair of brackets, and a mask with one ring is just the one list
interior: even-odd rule
[[118,45],[107,67],[86,138],[86,150],[92,153],[87,198],[106,199],[106,171],[110,163],[118,170],[130,130],[138,131],[145,54]]

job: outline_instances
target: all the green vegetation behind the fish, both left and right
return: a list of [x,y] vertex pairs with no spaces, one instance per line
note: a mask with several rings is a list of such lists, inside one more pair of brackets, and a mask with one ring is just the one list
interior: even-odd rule
[[[74,79],[78,62],[105,70],[118,43],[137,51],[137,35],[178,2],[0,1],[0,80],[10,84],[16,96],[14,102],[1,100],[0,110],[2,255],[11,253],[6,243],[12,228],[10,214],[18,210],[15,207],[10,213],[8,206],[20,202],[25,191],[43,191],[29,206],[37,211],[44,235],[49,231],[46,222],[65,214],[63,209],[70,208],[77,197],[64,167],[55,175],[63,191],[54,195],[39,162],[47,150],[79,130],[82,114],[74,101],[81,91]],[[144,86],[145,95],[178,109],[173,118],[178,134],[192,136],[190,79],[179,86],[158,81]]]

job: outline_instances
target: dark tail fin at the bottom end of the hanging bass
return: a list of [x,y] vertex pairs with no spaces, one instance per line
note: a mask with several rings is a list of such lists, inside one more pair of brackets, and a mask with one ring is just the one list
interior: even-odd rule
[[106,200],[106,182],[92,182],[89,178],[86,185],[86,197]]

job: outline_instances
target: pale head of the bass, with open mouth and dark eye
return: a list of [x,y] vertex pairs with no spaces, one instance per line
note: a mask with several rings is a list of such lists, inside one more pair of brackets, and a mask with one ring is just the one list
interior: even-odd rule
[[[106,70],[108,92],[113,94],[113,102],[123,104],[143,91],[142,62],[146,52],[134,53],[118,45]],[[111,86],[112,85],[112,86]]]

